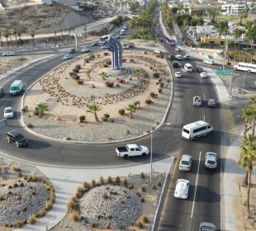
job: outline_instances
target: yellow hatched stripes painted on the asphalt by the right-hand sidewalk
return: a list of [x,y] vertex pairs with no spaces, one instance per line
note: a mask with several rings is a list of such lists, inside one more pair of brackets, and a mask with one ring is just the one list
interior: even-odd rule
[[239,132],[237,130],[237,126],[235,125],[230,106],[225,103],[221,104],[220,110],[224,117],[225,130],[229,134],[229,141],[230,144],[232,144],[236,137],[239,135]]

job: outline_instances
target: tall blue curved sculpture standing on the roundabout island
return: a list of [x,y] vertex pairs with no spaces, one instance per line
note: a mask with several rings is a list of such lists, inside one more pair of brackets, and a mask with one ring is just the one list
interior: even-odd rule
[[108,35],[108,43],[112,52],[111,66],[115,70],[120,70],[123,68],[121,43],[111,35]]

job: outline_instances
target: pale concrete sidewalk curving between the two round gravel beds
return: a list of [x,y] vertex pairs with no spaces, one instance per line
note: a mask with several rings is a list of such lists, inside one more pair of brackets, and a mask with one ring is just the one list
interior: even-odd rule
[[[165,158],[153,163],[153,172],[164,172],[168,173],[170,167],[173,164],[173,157]],[[50,230],[56,224],[64,218],[67,213],[67,204],[70,198],[74,195],[78,186],[81,186],[84,181],[91,182],[92,179],[99,179],[103,177],[107,179],[108,176],[111,177],[127,177],[133,175],[140,175],[141,172],[150,172],[150,163],[137,165],[133,167],[119,167],[119,168],[107,168],[107,169],[73,169],[69,168],[57,168],[57,167],[41,167],[36,166],[41,172],[50,179],[50,181],[55,186],[56,200],[55,204],[45,215],[45,217],[40,218],[36,221],[36,224],[26,224],[22,229],[15,230],[25,230],[25,231],[45,231]]]

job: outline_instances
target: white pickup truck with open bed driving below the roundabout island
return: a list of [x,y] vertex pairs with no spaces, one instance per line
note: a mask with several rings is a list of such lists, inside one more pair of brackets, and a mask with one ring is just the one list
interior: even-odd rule
[[117,156],[121,158],[135,157],[135,156],[147,156],[149,154],[149,148],[137,144],[126,144],[125,147],[116,148]]

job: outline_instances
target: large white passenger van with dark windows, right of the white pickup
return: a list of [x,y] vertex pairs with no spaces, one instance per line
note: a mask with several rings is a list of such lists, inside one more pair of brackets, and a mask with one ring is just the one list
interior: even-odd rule
[[199,120],[183,126],[182,136],[186,139],[197,139],[197,137],[212,133],[213,127],[205,121]]

